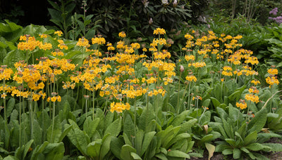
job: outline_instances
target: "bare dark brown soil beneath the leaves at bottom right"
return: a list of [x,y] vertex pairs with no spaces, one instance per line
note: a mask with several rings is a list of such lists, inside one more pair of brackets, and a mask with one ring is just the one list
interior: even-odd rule
[[[280,143],[282,144],[282,140],[279,138],[271,138],[270,140],[266,141],[267,143]],[[265,152],[264,156],[271,160],[282,160],[282,152]],[[209,154],[207,150],[204,152],[204,157],[197,158],[197,157],[191,157],[190,160],[207,160],[209,157]],[[212,156],[211,160],[224,160],[224,159],[232,159],[231,157],[223,156],[221,153],[214,152],[214,156]]]

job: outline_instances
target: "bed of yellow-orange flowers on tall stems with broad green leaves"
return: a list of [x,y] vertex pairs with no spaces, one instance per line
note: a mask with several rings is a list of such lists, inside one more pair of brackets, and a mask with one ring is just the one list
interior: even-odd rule
[[[268,141],[281,138],[281,66],[260,64],[240,35],[192,27],[152,35],[77,41],[44,26],[2,23],[1,159],[281,152]],[[266,41],[277,57],[278,40]]]

